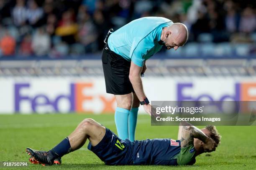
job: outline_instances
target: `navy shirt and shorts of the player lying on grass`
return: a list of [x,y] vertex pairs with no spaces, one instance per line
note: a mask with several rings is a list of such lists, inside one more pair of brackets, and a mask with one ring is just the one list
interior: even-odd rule
[[[96,146],[89,143],[88,149],[106,165],[178,165],[177,160],[182,158],[179,140],[147,139],[131,142],[128,139],[121,140],[108,128],[100,143]],[[194,153],[195,149],[189,151]],[[193,164],[190,160],[195,163],[194,155],[179,165]]]

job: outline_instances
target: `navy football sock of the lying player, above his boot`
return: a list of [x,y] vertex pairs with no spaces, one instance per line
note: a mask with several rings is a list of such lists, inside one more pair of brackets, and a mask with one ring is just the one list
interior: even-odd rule
[[62,157],[63,155],[70,153],[72,148],[69,143],[69,138],[65,138],[58,145],[50,150],[50,153],[54,158]]

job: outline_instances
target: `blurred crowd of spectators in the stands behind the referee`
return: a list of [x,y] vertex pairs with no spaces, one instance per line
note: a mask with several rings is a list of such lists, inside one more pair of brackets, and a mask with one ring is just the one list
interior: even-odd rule
[[253,0],[0,0],[0,56],[99,52],[109,28],[146,16],[184,23],[190,42],[256,41]]

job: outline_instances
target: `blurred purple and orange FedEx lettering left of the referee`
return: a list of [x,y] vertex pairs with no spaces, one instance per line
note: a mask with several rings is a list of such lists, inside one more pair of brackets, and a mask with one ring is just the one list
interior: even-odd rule
[[[105,95],[88,95],[84,93],[93,91],[94,84],[91,82],[71,83],[69,89],[65,90],[66,92],[56,94],[54,97],[52,95],[50,97],[51,89],[49,89],[49,92],[33,92],[31,94],[29,93],[31,86],[31,83],[16,83],[14,85],[15,112],[22,112],[21,106],[24,102],[28,103],[29,110],[32,112],[38,112],[38,110],[43,110],[43,112],[61,112],[63,102],[69,104],[65,112],[95,112],[91,107],[87,107],[88,103],[94,103],[91,105],[97,103],[96,105],[102,108],[100,112],[113,112],[114,110],[114,97],[107,98]],[[24,91],[28,92],[24,94]],[[65,107],[67,106],[65,105]],[[93,106],[92,108],[95,107]]]

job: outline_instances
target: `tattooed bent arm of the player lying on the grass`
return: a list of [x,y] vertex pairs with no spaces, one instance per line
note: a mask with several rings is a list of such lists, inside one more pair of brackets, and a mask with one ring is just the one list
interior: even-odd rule
[[202,130],[195,126],[181,126],[181,148],[186,148],[194,143],[194,138],[202,140],[203,143],[207,143],[208,137]]

